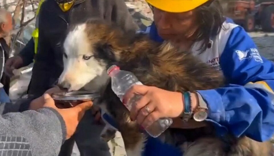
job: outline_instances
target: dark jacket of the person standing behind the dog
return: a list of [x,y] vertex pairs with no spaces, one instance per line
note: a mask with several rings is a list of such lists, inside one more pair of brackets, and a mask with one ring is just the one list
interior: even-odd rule
[[[124,26],[125,30],[137,30],[124,0],[76,0],[70,11],[63,12],[54,0],[46,0],[39,12],[39,42],[33,74],[29,85],[29,97],[41,96],[58,80],[63,71],[61,42],[69,25],[100,18]],[[34,52],[31,39],[21,56]],[[28,53],[28,54],[26,54]],[[29,60],[24,60],[27,64]]]

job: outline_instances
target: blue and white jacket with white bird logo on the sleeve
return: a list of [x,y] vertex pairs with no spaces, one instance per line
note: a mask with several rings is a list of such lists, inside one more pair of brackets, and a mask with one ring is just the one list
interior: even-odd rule
[[[163,42],[154,23],[143,33]],[[215,123],[219,135],[229,131],[237,137],[269,140],[274,133],[273,62],[261,57],[245,30],[230,19],[210,42],[211,47],[202,54],[201,42],[195,43],[193,55],[221,70],[229,84],[197,91],[209,108],[207,121]]]

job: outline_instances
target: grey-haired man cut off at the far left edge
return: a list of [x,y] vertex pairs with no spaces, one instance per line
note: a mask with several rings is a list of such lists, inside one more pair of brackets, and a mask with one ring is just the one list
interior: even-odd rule
[[[5,61],[9,58],[10,48],[7,45],[5,37],[9,36],[13,30],[13,19],[11,13],[5,9],[0,9],[0,68],[3,67]],[[1,83],[0,83],[0,102],[10,102],[9,94],[9,77],[1,70]]]

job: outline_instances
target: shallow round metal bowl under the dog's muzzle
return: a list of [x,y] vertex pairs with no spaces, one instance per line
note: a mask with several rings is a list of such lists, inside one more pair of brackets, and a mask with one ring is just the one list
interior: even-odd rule
[[60,92],[51,95],[53,100],[59,104],[63,104],[66,107],[73,107],[84,101],[94,100],[100,97],[97,93],[90,93],[88,91],[72,91],[72,92]]

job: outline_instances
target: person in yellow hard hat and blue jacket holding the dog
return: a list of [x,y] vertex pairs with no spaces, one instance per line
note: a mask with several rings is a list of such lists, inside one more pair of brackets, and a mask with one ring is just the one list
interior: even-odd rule
[[[143,97],[132,107],[131,119],[146,128],[159,118],[174,118],[172,127],[179,128],[182,134],[174,136],[179,143],[208,135],[205,121],[213,124],[214,135],[220,139],[229,133],[256,141],[269,140],[274,133],[274,65],[260,56],[245,30],[223,16],[217,0],[146,1],[154,13],[154,22],[139,32],[148,33],[154,41],[170,41],[175,47],[192,52],[222,71],[227,84],[191,93],[135,85],[126,93],[125,102],[134,94]],[[197,135],[188,135],[193,128]],[[143,155],[182,153],[176,145],[148,138]]]

